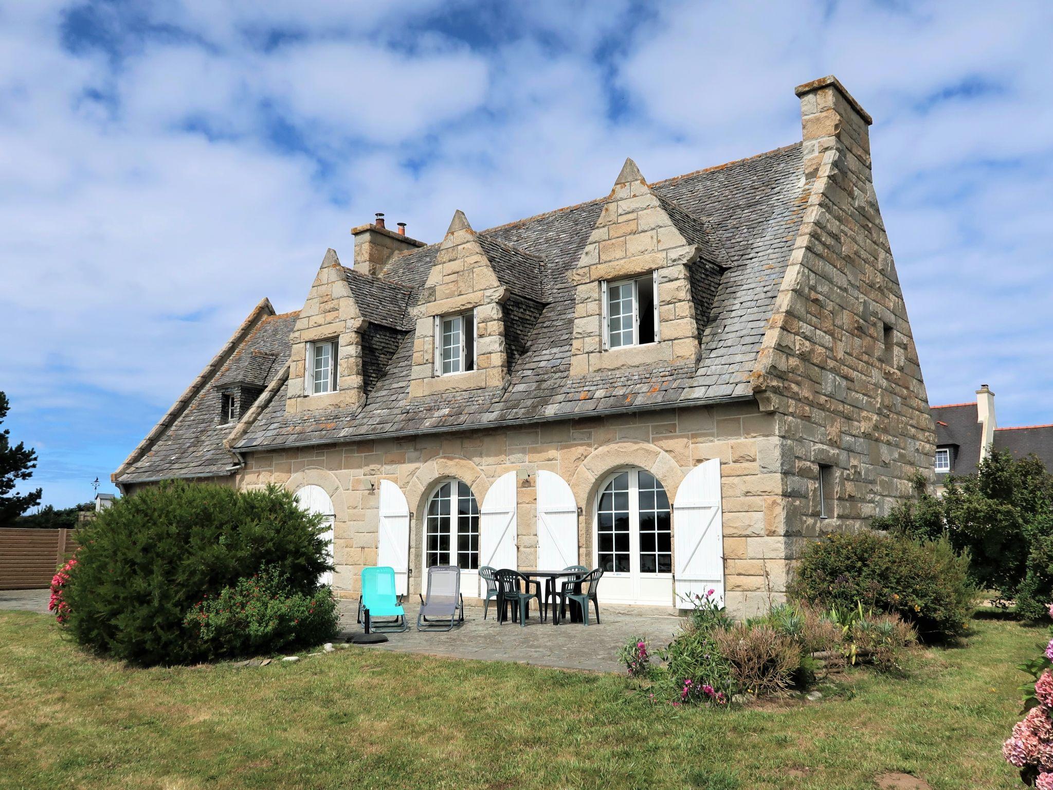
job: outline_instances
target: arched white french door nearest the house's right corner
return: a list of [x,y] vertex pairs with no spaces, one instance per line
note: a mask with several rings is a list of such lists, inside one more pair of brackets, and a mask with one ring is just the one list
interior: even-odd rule
[[665,489],[649,472],[628,469],[600,488],[593,558],[602,568],[599,597],[612,604],[673,604],[673,528]]

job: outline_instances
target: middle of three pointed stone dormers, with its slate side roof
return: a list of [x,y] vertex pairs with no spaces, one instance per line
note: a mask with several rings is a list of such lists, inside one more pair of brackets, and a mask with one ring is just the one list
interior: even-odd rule
[[510,299],[540,303],[542,263],[477,234],[463,212],[454,214],[410,311],[416,330],[411,397],[504,386],[510,353],[504,305]]

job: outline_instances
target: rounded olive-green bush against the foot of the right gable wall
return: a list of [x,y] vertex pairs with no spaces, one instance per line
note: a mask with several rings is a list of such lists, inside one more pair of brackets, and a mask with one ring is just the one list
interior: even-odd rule
[[899,614],[926,638],[952,638],[968,628],[976,588],[969,555],[946,537],[915,540],[865,530],[809,544],[790,586],[797,600]]

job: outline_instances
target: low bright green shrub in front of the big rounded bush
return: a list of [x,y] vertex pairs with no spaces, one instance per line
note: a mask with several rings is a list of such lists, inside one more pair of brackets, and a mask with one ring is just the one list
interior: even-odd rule
[[218,658],[318,645],[333,638],[338,619],[327,587],[296,592],[280,572],[264,569],[215,596],[205,595],[183,625],[210,658]]

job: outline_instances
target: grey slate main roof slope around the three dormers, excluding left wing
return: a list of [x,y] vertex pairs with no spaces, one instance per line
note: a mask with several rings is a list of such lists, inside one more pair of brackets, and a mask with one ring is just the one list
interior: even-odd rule
[[[568,275],[595,226],[604,197],[477,234],[488,256],[497,246],[490,242],[496,241],[543,259],[538,300],[543,308],[503,391],[411,401],[410,333],[358,412],[334,409],[287,415],[284,392],[279,391],[238,449],[751,397],[749,377],[808,198],[800,145],[650,186],[663,205],[675,204],[674,222],[703,246],[703,256],[728,268],[713,297],[697,366],[650,366],[571,379],[574,288]],[[438,245],[432,244],[399,256],[383,276],[413,289],[416,295],[437,252]],[[517,262],[522,263],[522,258]]]

